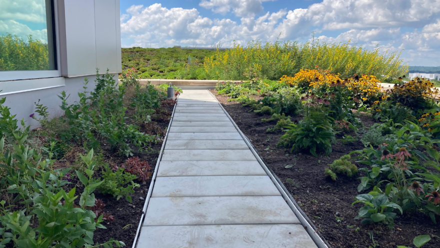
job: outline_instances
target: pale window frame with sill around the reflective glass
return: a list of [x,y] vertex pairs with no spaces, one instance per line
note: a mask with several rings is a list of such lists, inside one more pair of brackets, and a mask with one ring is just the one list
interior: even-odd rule
[[[60,64],[60,52],[59,52],[59,23],[58,23],[58,3],[57,0],[51,0],[52,4],[52,25],[53,28],[53,41],[55,41],[55,64],[56,69],[54,70],[8,70],[8,71],[0,71],[0,84],[2,81],[11,81],[11,80],[29,80],[29,79],[41,79],[41,78],[50,78],[50,77],[59,77],[61,76],[61,64]],[[52,41],[52,42],[53,42]],[[38,85],[35,85],[35,89],[41,89]]]

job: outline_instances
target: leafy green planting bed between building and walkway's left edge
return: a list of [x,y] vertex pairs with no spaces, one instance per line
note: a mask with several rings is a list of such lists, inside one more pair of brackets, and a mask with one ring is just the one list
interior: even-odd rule
[[47,107],[35,102],[29,114],[41,127],[34,130],[0,99],[0,247],[132,243],[139,196],[175,101],[130,76],[117,84],[96,72],[88,86],[86,78],[74,103],[59,94],[59,118],[48,119]]

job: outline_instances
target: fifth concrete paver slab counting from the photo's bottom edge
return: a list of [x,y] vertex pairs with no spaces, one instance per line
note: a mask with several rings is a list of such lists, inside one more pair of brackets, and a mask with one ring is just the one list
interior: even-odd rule
[[250,150],[164,150],[163,161],[253,161],[255,156]]

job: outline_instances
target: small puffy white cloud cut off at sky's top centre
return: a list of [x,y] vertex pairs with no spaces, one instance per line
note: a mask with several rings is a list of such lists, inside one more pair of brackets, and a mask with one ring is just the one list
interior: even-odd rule
[[199,5],[214,13],[225,14],[232,10],[236,16],[253,17],[263,10],[264,1],[276,0],[201,0]]

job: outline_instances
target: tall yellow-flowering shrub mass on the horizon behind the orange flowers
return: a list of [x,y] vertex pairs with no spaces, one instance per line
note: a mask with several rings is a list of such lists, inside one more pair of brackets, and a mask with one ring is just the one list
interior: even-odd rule
[[304,68],[322,68],[342,78],[376,75],[397,78],[408,66],[400,53],[369,50],[350,43],[324,43],[317,40],[299,42],[250,41],[247,45],[234,44],[231,49],[217,50],[204,60],[205,72],[211,79],[244,80],[247,68],[256,69],[259,78],[276,80],[282,75],[294,75]]

